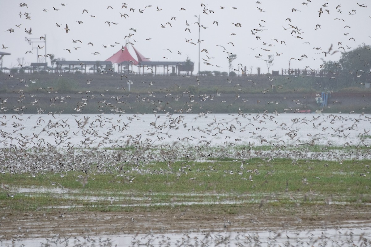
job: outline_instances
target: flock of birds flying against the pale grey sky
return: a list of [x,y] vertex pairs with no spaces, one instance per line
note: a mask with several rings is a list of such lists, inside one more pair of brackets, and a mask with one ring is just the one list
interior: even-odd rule
[[[305,2],[302,3],[302,5],[308,7],[309,4],[312,4],[311,1],[312,0],[306,0]],[[262,2],[256,1],[256,4],[257,4],[257,7],[256,7],[257,11],[262,12],[262,13],[266,12],[262,7],[259,7],[260,4],[262,4]],[[361,8],[366,8],[367,7],[365,4],[359,4],[359,3],[357,3],[357,5],[358,5],[358,7],[361,7]],[[26,7],[26,8],[28,8],[27,3],[19,3],[19,6],[20,7]],[[64,8],[64,7],[67,6],[67,4],[62,3],[61,6]],[[203,14],[206,14],[208,16],[208,18],[210,18],[210,16],[213,16],[213,14],[215,14],[215,12],[217,11],[217,10],[214,11],[212,9],[207,8],[206,4],[203,4],[203,3],[201,3],[200,6],[202,8],[201,9],[202,10],[202,13]],[[47,12],[47,11],[59,11],[59,10],[62,10],[62,7],[61,8],[53,7],[52,10],[43,9],[42,11],[45,11],[45,12]],[[338,4],[337,6],[333,6],[333,7],[334,7],[334,9],[332,9],[332,7],[329,6],[329,3],[322,4],[320,6],[319,10],[318,10],[319,17],[321,17],[321,15],[323,15],[324,13],[330,14],[330,11],[331,11],[331,14],[333,14],[333,11],[335,11],[338,14],[343,14],[343,10],[341,8],[341,4]],[[147,6],[143,7],[142,9],[141,8],[134,9],[134,8],[130,7],[129,4],[122,3],[121,4],[120,11],[117,13],[117,15],[120,16],[120,18],[125,18],[125,19],[128,19],[129,20],[130,19],[130,15],[129,15],[130,13],[132,13],[132,14],[145,13],[145,11],[148,11],[147,9],[151,9],[151,8],[154,8],[154,7],[152,5],[147,5]],[[220,6],[220,10],[227,9],[227,8],[237,10],[237,7],[223,7],[223,6]],[[106,10],[114,10],[114,9],[116,10],[117,7],[114,8],[112,6],[107,6],[107,8],[106,8]],[[123,10],[127,11],[128,13],[122,14],[121,12],[124,12]],[[86,15],[88,15],[90,17],[96,18],[96,16],[90,14],[89,13],[89,10],[87,10],[87,9],[83,9],[81,11],[82,11],[82,14],[86,14]],[[159,7],[159,6],[156,6],[156,11],[160,11],[161,12],[161,11],[163,11],[163,9],[161,7]],[[187,10],[182,7],[182,8],[180,8],[179,11],[187,11]],[[300,11],[301,10],[296,9],[296,8],[292,8],[292,10],[291,10],[292,13],[296,13],[296,12],[300,12]],[[347,10],[347,11],[348,11],[348,14],[350,16],[352,16],[352,15],[355,15],[356,14],[356,11],[357,10],[356,9],[351,9],[351,10]],[[20,11],[19,12],[19,16],[20,17],[25,16],[26,19],[29,19],[29,20],[31,19],[31,14],[30,13],[27,13],[27,12],[22,13],[22,11]],[[259,15],[257,15],[257,16],[259,16]],[[298,27],[298,25],[293,24],[291,22],[293,20],[293,18],[294,17],[287,18],[286,19],[286,21],[288,21],[288,27],[283,27],[283,29],[285,31],[286,30],[289,30],[290,31],[290,34],[291,34],[290,36],[296,37],[297,39],[300,39],[300,40],[304,40],[302,34],[305,32],[305,30],[302,30],[301,28]],[[170,20],[168,22],[164,23],[164,24],[160,23],[160,27],[161,28],[168,28],[168,27],[171,28],[171,27],[173,27],[173,25],[175,24],[175,21],[177,20],[177,17],[176,16],[172,16],[171,18],[169,17],[169,19]],[[336,17],[334,20],[345,21],[344,18],[338,18],[338,17]],[[210,23],[210,24],[219,26],[219,22],[220,22],[220,20],[213,20],[212,23]],[[251,29],[251,34],[256,38],[256,40],[259,40],[260,41],[262,39],[266,39],[266,38],[263,38],[261,34],[264,33],[265,30],[267,30],[267,29],[264,29],[265,28],[265,25],[267,24],[267,21],[265,21],[263,19],[258,19],[257,22],[258,22],[257,24],[259,26],[252,28]],[[76,23],[78,23],[78,24],[85,24],[81,20],[77,20]],[[112,25],[118,25],[119,24],[119,23],[116,23],[114,21],[105,21],[104,24],[106,24],[106,23],[107,23],[107,25],[109,27],[111,27],[111,24]],[[66,31],[66,34],[69,34],[69,33],[71,33],[73,31],[73,30],[71,31],[70,27],[68,26],[69,25],[68,23],[67,24],[58,24],[58,23],[55,23],[55,24],[56,24],[57,27],[61,27],[61,26],[64,27],[64,25],[65,25],[65,28],[63,30]],[[201,28],[202,29],[207,29],[208,28],[208,27],[205,27],[203,24],[201,24],[199,21],[196,21],[195,23],[188,23],[188,21],[185,20],[185,30],[184,31],[185,32],[188,32],[188,33],[191,33],[191,25],[196,25],[196,24],[197,24],[197,26],[196,26],[197,29],[201,29]],[[19,25],[16,24],[16,27],[20,28],[21,25],[22,24],[19,24]],[[231,22],[230,25],[233,25],[234,27],[238,27],[238,28],[241,28],[242,26],[246,26],[246,24],[243,25],[242,23],[239,23],[239,22],[236,22],[236,23]],[[71,26],[71,24],[70,24],[70,26]],[[316,24],[315,27],[314,27],[314,30],[321,29],[321,26],[322,26],[321,24]],[[345,25],[344,28],[350,29],[351,27],[348,26],[348,25]],[[25,32],[27,34],[31,34],[32,33],[32,28],[27,29],[25,27],[24,30],[25,30]],[[12,32],[15,32],[16,30],[14,28],[9,28],[6,31],[9,31],[10,33],[12,33]],[[128,38],[129,41],[127,41],[125,44],[122,44],[122,50],[124,50],[128,44],[134,45],[134,43],[137,42],[137,40],[134,39],[135,38],[134,34],[137,34],[137,29],[131,28],[131,29],[129,29],[129,31],[131,31],[133,33],[129,33],[128,35],[125,35],[124,39],[127,39]],[[74,34],[76,34],[76,33],[74,33]],[[237,34],[238,33],[231,33],[230,36],[236,36]],[[344,36],[348,36],[348,35],[351,35],[351,34],[350,33],[344,33]],[[265,35],[265,37],[266,37],[266,35]],[[348,37],[347,37],[347,40],[348,41],[354,41],[355,42],[355,38],[354,37],[349,37],[349,38]],[[42,40],[42,39],[45,39],[45,37],[41,36],[40,37],[40,40]],[[153,38],[148,37],[145,40],[150,41],[150,40],[153,40]],[[278,57],[281,56],[283,53],[279,52],[279,48],[277,48],[277,49],[275,48],[275,46],[278,47],[278,44],[274,44],[271,40],[272,41],[275,41],[276,43],[278,43],[280,45],[286,45],[286,42],[288,42],[288,41],[285,41],[285,40],[279,40],[279,39],[277,39],[275,37],[271,37],[270,40],[264,40],[262,42],[262,44],[260,46],[258,46],[260,48],[260,51],[269,52],[269,53],[272,53],[272,54],[274,54],[275,56],[278,56]],[[32,42],[31,40],[28,40],[28,41],[29,42]],[[77,42],[79,42],[81,44],[83,43],[81,40],[74,40],[74,39],[72,39],[72,41],[73,41],[73,43],[77,43]],[[194,39],[189,39],[189,38],[187,39],[187,37],[186,37],[185,38],[185,41],[187,43],[196,45],[198,43],[202,43],[204,40],[198,39],[196,41]],[[337,50],[334,50],[334,48],[333,48],[332,45],[331,45],[331,47],[329,47],[328,50],[327,49],[324,50],[324,49],[322,49],[322,47],[313,47],[313,49],[315,51],[322,50],[321,53],[319,53],[319,54],[322,54],[325,57],[327,57],[328,54],[334,54],[336,52],[339,52],[341,49],[343,51],[346,51],[345,49],[349,50],[349,49],[352,49],[353,48],[353,47],[350,46],[350,43],[347,43],[346,41],[337,41],[337,42],[338,42],[338,46],[339,46]],[[236,42],[235,41],[229,41],[227,44],[217,45],[217,46],[220,46],[223,49],[222,51],[227,54],[227,61],[228,62],[231,62],[231,60],[234,60],[234,58],[233,57],[230,57],[230,55],[232,55],[232,53],[228,51],[228,49],[226,48],[226,46],[230,45],[230,46],[233,46],[234,47],[234,43],[236,43]],[[345,46],[347,48],[345,48],[343,46],[343,43],[345,44]],[[94,46],[92,42],[87,42],[86,44],[87,45]],[[114,47],[114,46],[119,45],[119,44],[120,44],[119,42],[115,42],[115,44],[108,44],[108,45],[102,44],[102,46],[106,48],[106,47]],[[303,42],[303,44],[309,44],[310,45],[310,43],[308,41]],[[349,44],[349,46],[348,46],[348,44]],[[298,44],[297,43],[291,43],[290,45],[296,46]],[[9,46],[6,46],[6,45],[3,44],[3,49],[7,49],[8,47]],[[256,48],[258,48],[258,47],[256,47]],[[43,49],[44,46],[38,46],[38,48],[39,49]],[[249,49],[251,49],[253,51],[256,50],[256,48],[250,48],[249,47]],[[82,48],[76,46],[76,47],[73,47],[73,48],[65,48],[64,50],[66,50],[69,53],[71,53],[72,50],[78,50],[78,49],[82,49]],[[168,51],[171,52],[170,49],[164,49],[164,50],[168,50]],[[209,55],[209,50],[210,50],[209,48],[204,48],[204,49],[202,49],[200,51],[201,54],[205,54],[206,55],[206,57],[203,58],[203,63],[206,64],[208,67],[209,66],[211,66],[211,67],[215,66],[217,68],[222,67],[222,66],[220,66],[220,64],[214,64],[213,63],[213,59],[215,57]],[[26,51],[26,54],[27,53],[32,53],[32,51]],[[183,53],[184,52],[181,52],[181,51],[178,50],[178,54],[183,54]],[[91,54],[97,56],[97,55],[100,55],[101,53],[99,51],[95,51],[95,52],[93,52]],[[53,54],[39,55],[39,57],[43,57],[43,56],[49,57],[49,56],[52,56],[52,55]],[[309,55],[302,54],[300,57],[291,57],[290,60],[302,61],[302,60],[308,59],[308,56]],[[255,58],[256,59],[266,61],[266,58],[265,57],[266,57],[265,54],[260,54],[259,52],[255,55]],[[162,56],[162,58],[171,59],[168,56]],[[317,58],[313,58],[313,60],[316,60]],[[240,63],[239,65],[241,65],[241,67],[239,69],[239,70],[241,70],[241,72],[243,72],[243,73],[244,72],[247,72],[247,71],[244,71],[243,64],[242,63]],[[149,69],[149,68],[147,67],[147,69]],[[305,69],[312,69],[312,68],[311,68],[311,66],[305,66]],[[234,69],[234,70],[239,71],[237,69]],[[314,70],[314,69],[312,69],[312,70]],[[250,71],[250,73],[251,73],[251,71]]]

